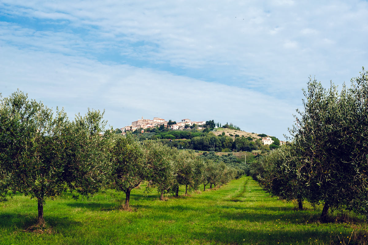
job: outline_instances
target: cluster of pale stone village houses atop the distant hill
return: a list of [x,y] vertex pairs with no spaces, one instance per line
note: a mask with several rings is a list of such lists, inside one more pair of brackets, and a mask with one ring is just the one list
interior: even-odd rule
[[[153,120],[151,119],[143,119],[143,116],[141,119],[132,122],[131,125],[129,126],[125,126],[121,128],[121,131],[123,132],[127,132],[129,130],[134,131],[137,129],[148,129],[149,127],[156,127],[156,126],[160,126],[163,125],[165,127],[170,127],[170,129],[180,129],[183,130],[185,128],[185,125],[188,126],[192,126],[192,125],[198,125],[198,126],[202,126],[204,125],[206,122],[205,121],[191,121],[190,119],[183,119],[181,120],[181,122],[173,124],[168,126],[168,123],[165,119],[162,118],[153,118]],[[202,129],[202,127],[198,127],[198,129]]]

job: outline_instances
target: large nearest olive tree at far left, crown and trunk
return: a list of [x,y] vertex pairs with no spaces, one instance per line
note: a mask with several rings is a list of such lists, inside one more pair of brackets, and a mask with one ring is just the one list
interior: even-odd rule
[[43,224],[46,198],[66,190],[96,192],[105,169],[101,118],[89,111],[71,123],[63,110],[53,113],[20,91],[1,97],[1,193],[18,191],[36,198],[38,223]]

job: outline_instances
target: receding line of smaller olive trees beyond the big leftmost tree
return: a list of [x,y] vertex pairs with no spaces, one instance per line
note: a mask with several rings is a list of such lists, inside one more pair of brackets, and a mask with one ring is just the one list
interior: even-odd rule
[[126,195],[122,206],[129,207],[130,192],[144,181],[148,188],[157,188],[160,199],[165,193],[178,196],[179,186],[197,190],[199,185],[223,185],[235,178],[237,169],[223,162],[203,161],[191,153],[181,153],[176,148],[158,141],[139,142],[130,133],[110,135],[112,139],[112,172],[110,186]]

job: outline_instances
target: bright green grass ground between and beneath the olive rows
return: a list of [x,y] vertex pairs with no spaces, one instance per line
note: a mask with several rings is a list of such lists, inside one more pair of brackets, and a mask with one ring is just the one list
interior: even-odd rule
[[250,177],[167,201],[159,201],[156,191],[144,196],[144,189],[132,190],[134,211],[119,210],[124,193],[100,193],[83,201],[65,193],[47,200],[45,220],[52,234],[23,231],[36,221],[37,202],[15,196],[0,204],[0,244],[367,243],[364,218],[320,224],[320,207],[297,211]]

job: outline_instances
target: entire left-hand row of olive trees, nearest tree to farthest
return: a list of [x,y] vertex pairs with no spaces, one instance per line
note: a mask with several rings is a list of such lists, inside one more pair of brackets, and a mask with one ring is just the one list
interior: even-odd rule
[[[179,185],[198,188],[206,182],[204,163],[190,154],[159,142],[140,143],[105,130],[100,111],[88,110],[73,121],[63,110],[47,108],[20,91],[0,97],[0,200],[16,192],[38,201],[38,222],[43,224],[47,198],[61,192],[90,196],[103,188],[126,193],[149,181],[161,193],[178,192]],[[232,177],[226,166],[210,183]]]

